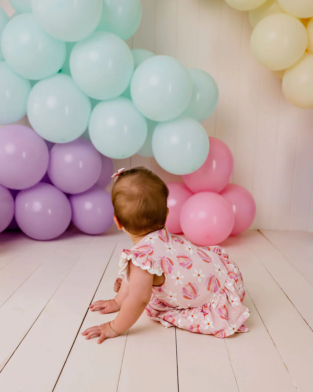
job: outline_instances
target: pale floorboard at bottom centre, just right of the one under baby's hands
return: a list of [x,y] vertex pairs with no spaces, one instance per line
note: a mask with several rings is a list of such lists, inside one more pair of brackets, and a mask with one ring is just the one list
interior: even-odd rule
[[178,392],[175,328],[142,314],[128,331],[118,391],[159,392],[161,385]]

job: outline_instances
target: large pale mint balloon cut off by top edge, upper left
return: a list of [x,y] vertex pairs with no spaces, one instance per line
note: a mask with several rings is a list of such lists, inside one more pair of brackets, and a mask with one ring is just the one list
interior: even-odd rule
[[102,13],[102,0],[31,0],[31,6],[40,26],[62,41],[86,38]]

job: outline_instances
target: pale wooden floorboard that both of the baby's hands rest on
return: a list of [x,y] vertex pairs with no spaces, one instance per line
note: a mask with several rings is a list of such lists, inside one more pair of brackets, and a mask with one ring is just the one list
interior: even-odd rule
[[[110,299],[115,296],[113,283],[117,277],[119,252],[123,247],[131,246],[126,239],[120,240],[115,248],[110,263],[90,303],[98,299]],[[86,304],[88,309],[89,303]],[[96,390],[105,385],[107,392],[116,392],[119,383],[127,332],[114,339],[107,339],[97,344],[99,337],[88,341],[81,335],[86,328],[112,320],[115,315],[87,312],[77,334],[74,345],[59,376],[54,392],[85,392]]]

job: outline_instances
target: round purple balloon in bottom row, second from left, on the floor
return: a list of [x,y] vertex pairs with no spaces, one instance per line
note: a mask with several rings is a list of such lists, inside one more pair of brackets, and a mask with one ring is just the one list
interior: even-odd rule
[[15,218],[21,230],[35,240],[52,240],[70,224],[72,210],[63,192],[38,183],[20,191],[15,199]]

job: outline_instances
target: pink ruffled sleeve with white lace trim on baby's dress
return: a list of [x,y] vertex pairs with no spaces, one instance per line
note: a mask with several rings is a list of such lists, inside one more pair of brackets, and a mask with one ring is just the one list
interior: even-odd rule
[[139,252],[138,250],[129,250],[123,249],[120,252],[120,261],[119,261],[119,278],[122,278],[126,283],[129,283],[129,261],[140,267],[143,270],[147,270],[150,274],[155,274],[161,276],[163,274],[163,270],[151,256],[146,253]]

